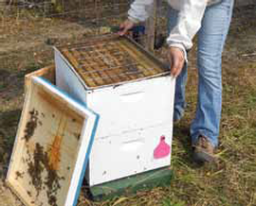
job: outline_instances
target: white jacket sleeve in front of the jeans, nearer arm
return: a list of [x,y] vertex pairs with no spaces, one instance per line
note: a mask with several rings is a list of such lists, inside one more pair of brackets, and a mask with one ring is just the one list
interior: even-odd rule
[[167,43],[181,48],[185,56],[186,50],[192,48],[192,38],[201,27],[207,2],[208,0],[180,0],[177,25],[170,32]]

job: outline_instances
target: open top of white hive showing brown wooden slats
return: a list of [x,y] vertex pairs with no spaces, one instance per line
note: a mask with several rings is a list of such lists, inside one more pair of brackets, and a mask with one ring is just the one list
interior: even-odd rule
[[59,48],[89,88],[168,73],[160,62],[127,38],[107,36]]

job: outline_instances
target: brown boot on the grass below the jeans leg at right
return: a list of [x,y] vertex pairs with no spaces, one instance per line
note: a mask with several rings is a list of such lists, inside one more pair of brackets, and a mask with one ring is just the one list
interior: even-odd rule
[[214,146],[205,136],[199,136],[193,148],[193,160],[196,163],[212,163],[215,161]]

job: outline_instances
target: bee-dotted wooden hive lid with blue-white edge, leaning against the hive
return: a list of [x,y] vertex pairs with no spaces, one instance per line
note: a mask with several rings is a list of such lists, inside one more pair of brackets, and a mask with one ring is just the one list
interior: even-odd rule
[[28,85],[7,184],[27,206],[76,205],[99,116],[43,77]]

